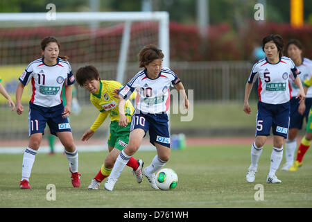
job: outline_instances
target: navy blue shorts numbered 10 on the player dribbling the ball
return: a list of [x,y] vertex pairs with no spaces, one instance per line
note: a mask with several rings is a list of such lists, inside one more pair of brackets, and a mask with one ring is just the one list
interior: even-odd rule
[[137,128],[141,128],[150,134],[150,143],[155,146],[161,144],[170,148],[171,139],[168,126],[168,115],[164,114],[143,114],[135,113],[132,115],[130,132]]

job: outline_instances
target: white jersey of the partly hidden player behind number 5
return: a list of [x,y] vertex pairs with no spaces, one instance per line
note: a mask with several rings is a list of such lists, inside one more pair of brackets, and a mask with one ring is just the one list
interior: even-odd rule
[[[302,58],[302,64],[297,67],[301,74],[298,76],[300,80],[302,81],[302,85],[304,83],[304,80],[310,79],[312,76],[312,61],[309,60],[309,58]],[[291,96],[295,97],[297,96],[299,92],[299,88],[293,80],[290,80],[291,82]],[[312,87],[309,87],[308,92],[306,92],[306,98],[312,98]]]

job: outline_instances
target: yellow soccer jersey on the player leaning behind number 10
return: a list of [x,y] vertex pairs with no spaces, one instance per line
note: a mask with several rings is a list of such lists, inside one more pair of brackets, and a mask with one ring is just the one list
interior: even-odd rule
[[[111,121],[119,121],[119,110],[118,110],[118,101],[114,97],[114,89],[123,87],[121,83],[112,81],[112,80],[100,80],[100,87],[98,92],[95,94],[90,94],[90,101],[92,104],[100,111],[98,118],[94,121],[91,126],[91,130],[96,131],[96,129],[101,126],[103,121],[105,121],[107,115],[110,115]],[[133,93],[130,99],[134,99],[136,93]],[[125,116],[128,118],[129,123],[131,122],[131,117],[135,108],[130,101],[125,102]]]

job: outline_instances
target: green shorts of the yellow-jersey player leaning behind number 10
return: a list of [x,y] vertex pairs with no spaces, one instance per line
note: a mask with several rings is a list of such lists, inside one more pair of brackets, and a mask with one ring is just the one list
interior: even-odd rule
[[110,136],[108,137],[108,146],[118,148],[122,151],[129,142],[130,125],[123,127],[119,126],[117,121],[112,121],[110,123]]

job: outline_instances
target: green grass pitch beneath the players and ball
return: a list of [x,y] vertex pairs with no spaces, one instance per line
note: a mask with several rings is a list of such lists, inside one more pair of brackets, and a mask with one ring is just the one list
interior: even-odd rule
[[[245,180],[250,165],[250,145],[188,146],[171,153],[166,167],[177,172],[179,182],[170,191],[154,190],[146,178],[137,184],[125,167],[114,191],[106,191],[103,182],[98,190],[87,190],[107,152],[79,153],[81,187],[73,188],[69,164],[64,155],[39,153],[31,174],[33,189],[19,189],[22,155],[0,155],[0,207],[102,207],[102,208],[194,208],[194,207],[312,207],[312,154],[304,157],[297,172],[277,171],[281,184],[267,184],[272,146],[267,144],[259,160],[256,180]],[[136,158],[145,167],[155,156],[153,151],[138,151]],[[284,163],[284,160],[281,164]],[[56,187],[55,200],[46,200],[46,185]],[[264,200],[255,200],[263,185]]]

